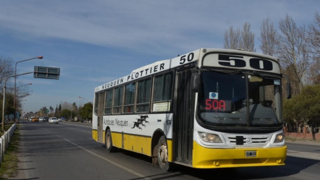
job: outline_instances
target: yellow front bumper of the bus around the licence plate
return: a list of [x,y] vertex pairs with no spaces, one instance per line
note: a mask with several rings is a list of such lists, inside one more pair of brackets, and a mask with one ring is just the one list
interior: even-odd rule
[[[246,158],[245,151],[257,151],[257,157]],[[194,168],[231,168],[284,165],[287,146],[268,149],[211,149],[193,142]]]

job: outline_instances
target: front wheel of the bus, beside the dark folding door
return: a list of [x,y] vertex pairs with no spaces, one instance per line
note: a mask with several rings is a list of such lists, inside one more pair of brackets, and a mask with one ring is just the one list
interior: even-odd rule
[[168,161],[168,144],[164,136],[161,136],[157,146],[157,159],[160,168],[164,171],[172,169],[172,163]]

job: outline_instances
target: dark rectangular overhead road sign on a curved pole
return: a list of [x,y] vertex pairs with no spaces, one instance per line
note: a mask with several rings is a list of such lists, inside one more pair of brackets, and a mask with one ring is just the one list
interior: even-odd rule
[[34,78],[59,79],[60,68],[35,66]]

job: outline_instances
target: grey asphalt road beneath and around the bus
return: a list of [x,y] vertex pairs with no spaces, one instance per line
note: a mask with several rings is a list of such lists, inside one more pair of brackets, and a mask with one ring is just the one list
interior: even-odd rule
[[129,151],[107,153],[103,144],[92,139],[91,124],[22,120],[19,131],[19,174],[11,179],[318,180],[320,177],[320,159],[313,158],[320,146],[288,144],[285,166],[209,170],[178,166],[176,171],[165,172],[144,155]]

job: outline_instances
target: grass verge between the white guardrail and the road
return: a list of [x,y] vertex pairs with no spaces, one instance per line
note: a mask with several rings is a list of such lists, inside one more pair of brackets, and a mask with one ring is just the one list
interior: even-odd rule
[[17,167],[19,161],[17,155],[19,149],[19,138],[19,124],[17,124],[16,130],[14,131],[14,134],[12,136],[12,141],[9,144],[7,152],[4,154],[4,161],[1,163],[0,179],[5,180],[9,177],[14,177],[17,174]]

